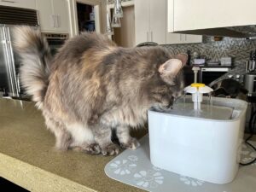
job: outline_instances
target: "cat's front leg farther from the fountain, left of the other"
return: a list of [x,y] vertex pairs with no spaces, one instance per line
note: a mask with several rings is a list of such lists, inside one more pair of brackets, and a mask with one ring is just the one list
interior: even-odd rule
[[119,146],[111,141],[111,128],[107,125],[98,124],[93,126],[93,134],[96,143],[100,145],[103,155],[119,154]]

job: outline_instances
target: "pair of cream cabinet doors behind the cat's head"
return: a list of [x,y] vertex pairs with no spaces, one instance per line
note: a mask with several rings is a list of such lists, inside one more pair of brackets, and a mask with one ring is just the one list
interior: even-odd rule
[[166,44],[166,0],[135,0],[136,44]]

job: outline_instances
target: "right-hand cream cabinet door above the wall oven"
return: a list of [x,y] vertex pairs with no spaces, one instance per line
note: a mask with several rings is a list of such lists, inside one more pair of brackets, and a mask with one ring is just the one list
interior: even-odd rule
[[55,19],[55,31],[69,32],[67,0],[52,0]]

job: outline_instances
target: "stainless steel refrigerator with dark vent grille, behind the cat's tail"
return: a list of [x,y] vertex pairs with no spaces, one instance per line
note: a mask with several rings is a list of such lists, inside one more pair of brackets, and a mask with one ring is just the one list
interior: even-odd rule
[[19,56],[13,47],[15,26],[38,27],[38,13],[33,9],[0,6],[0,91],[3,96],[25,98],[20,86]]

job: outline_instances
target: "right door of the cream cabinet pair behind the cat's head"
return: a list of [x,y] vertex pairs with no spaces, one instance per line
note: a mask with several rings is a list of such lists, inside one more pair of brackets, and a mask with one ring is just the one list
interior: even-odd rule
[[150,41],[166,44],[166,0],[150,0]]

